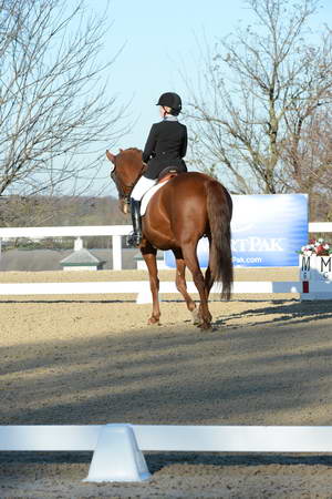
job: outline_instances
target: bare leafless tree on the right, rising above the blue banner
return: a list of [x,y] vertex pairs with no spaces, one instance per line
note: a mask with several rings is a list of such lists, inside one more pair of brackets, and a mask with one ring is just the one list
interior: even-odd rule
[[206,43],[197,84],[185,77],[194,162],[212,165],[237,193],[299,191],[310,124],[331,106],[331,31],[309,44],[315,0],[245,4],[255,24]]

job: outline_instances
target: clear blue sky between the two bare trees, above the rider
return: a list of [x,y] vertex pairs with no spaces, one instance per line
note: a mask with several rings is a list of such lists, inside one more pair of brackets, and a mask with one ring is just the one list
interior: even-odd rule
[[[301,0],[300,0],[301,1]],[[103,11],[106,0],[96,0],[93,9]],[[332,22],[332,0],[322,0],[312,23]],[[197,38],[208,41],[234,31],[237,22],[250,23],[250,11],[243,0],[112,0],[112,28],[105,40],[103,55],[112,58],[120,47],[122,53],[112,67],[110,94],[120,102],[132,100],[129,113],[133,130],[118,147],[143,147],[151,124],[159,120],[154,105],[163,92],[176,91],[186,102],[180,70],[197,74],[195,63]]]

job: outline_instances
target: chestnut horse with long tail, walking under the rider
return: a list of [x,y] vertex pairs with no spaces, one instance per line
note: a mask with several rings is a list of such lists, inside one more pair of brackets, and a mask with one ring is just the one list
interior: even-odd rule
[[[114,155],[106,151],[113,163],[111,176],[116,184],[121,210],[126,213],[131,192],[144,172],[142,151],[120,150]],[[215,179],[198,172],[180,173],[172,177],[149,201],[142,217],[143,242],[139,246],[149,274],[153,313],[149,324],[159,322],[159,279],[156,264],[157,249],[172,249],[176,259],[176,287],[184,296],[194,322],[209,329],[211,315],[208,296],[215,282],[222,283],[221,297],[230,298],[232,261],[230,248],[231,197]],[[205,277],[199,268],[197,244],[203,237],[209,241],[209,263]],[[200,298],[196,304],[187,293],[186,267],[193,274]]]

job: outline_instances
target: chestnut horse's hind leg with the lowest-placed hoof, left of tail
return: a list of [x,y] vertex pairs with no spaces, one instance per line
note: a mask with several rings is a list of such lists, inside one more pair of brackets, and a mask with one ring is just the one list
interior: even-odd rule
[[211,314],[208,308],[208,292],[206,289],[205,278],[199,267],[196,245],[183,245],[184,259],[193,274],[193,279],[197,291],[199,293],[200,305],[199,305],[199,318],[200,327],[203,329],[209,329],[211,327]]

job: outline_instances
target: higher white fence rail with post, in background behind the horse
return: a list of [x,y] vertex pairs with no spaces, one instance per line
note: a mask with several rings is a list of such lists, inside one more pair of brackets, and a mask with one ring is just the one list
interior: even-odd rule
[[[95,226],[64,226],[64,227],[2,227],[0,228],[0,257],[1,240],[28,237],[31,240],[44,237],[112,237],[113,269],[122,269],[122,241],[121,237],[132,231],[132,225],[95,225]],[[332,232],[332,222],[311,222],[310,233]]]

